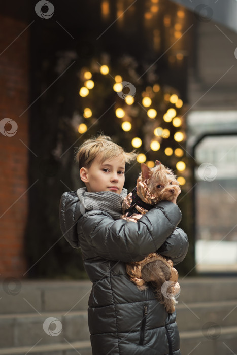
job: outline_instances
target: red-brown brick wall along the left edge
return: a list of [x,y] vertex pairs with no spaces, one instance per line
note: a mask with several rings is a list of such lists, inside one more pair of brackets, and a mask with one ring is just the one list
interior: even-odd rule
[[[27,267],[23,244],[28,213],[28,111],[19,116],[29,106],[30,29],[20,34],[28,24],[8,17],[0,16],[0,23],[0,125],[4,118],[18,125],[12,136],[0,133],[0,277],[4,278],[22,277]],[[9,131],[11,125],[5,128]]]

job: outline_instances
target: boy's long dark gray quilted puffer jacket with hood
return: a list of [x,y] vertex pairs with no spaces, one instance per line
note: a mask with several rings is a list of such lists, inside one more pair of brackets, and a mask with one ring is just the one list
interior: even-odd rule
[[125,263],[156,252],[174,265],[188,250],[187,235],[176,228],[181,211],[159,202],[137,223],[114,220],[107,212],[82,215],[76,191],[60,200],[60,227],[65,239],[81,248],[85,270],[93,282],[88,326],[93,355],[180,355],[176,312],[169,314],[154,290],[140,291]]

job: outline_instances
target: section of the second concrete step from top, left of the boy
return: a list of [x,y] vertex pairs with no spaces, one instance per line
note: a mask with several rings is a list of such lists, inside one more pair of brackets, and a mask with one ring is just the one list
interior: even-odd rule
[[44,345],[58,344],[64,338],[69,342],[90,341],[87,311],[0,316],[2,347],[33,346],[39,339]]

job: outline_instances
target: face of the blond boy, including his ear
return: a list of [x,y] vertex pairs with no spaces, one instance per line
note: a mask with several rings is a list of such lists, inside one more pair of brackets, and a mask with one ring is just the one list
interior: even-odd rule
[[124,185],[125,161],[121,156],[100,162],[99,155],[89,168],[81,168],[80,176],[88,192],[113,191],[120,194]]

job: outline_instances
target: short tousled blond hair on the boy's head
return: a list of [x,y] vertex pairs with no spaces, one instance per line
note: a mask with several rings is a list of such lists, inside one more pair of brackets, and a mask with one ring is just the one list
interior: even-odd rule
[[109,136],[100,133],[97,137],[85,140],[77,149],[74,159],[79,166],[79,170],[82,167],[89,168],[98,154],[100,154],[101,163],[104,163],[107,159],[113,159],[122,155],[125,163],[128,164],[135,160],[138,155],[135,149],[130,153],[125,152]]

